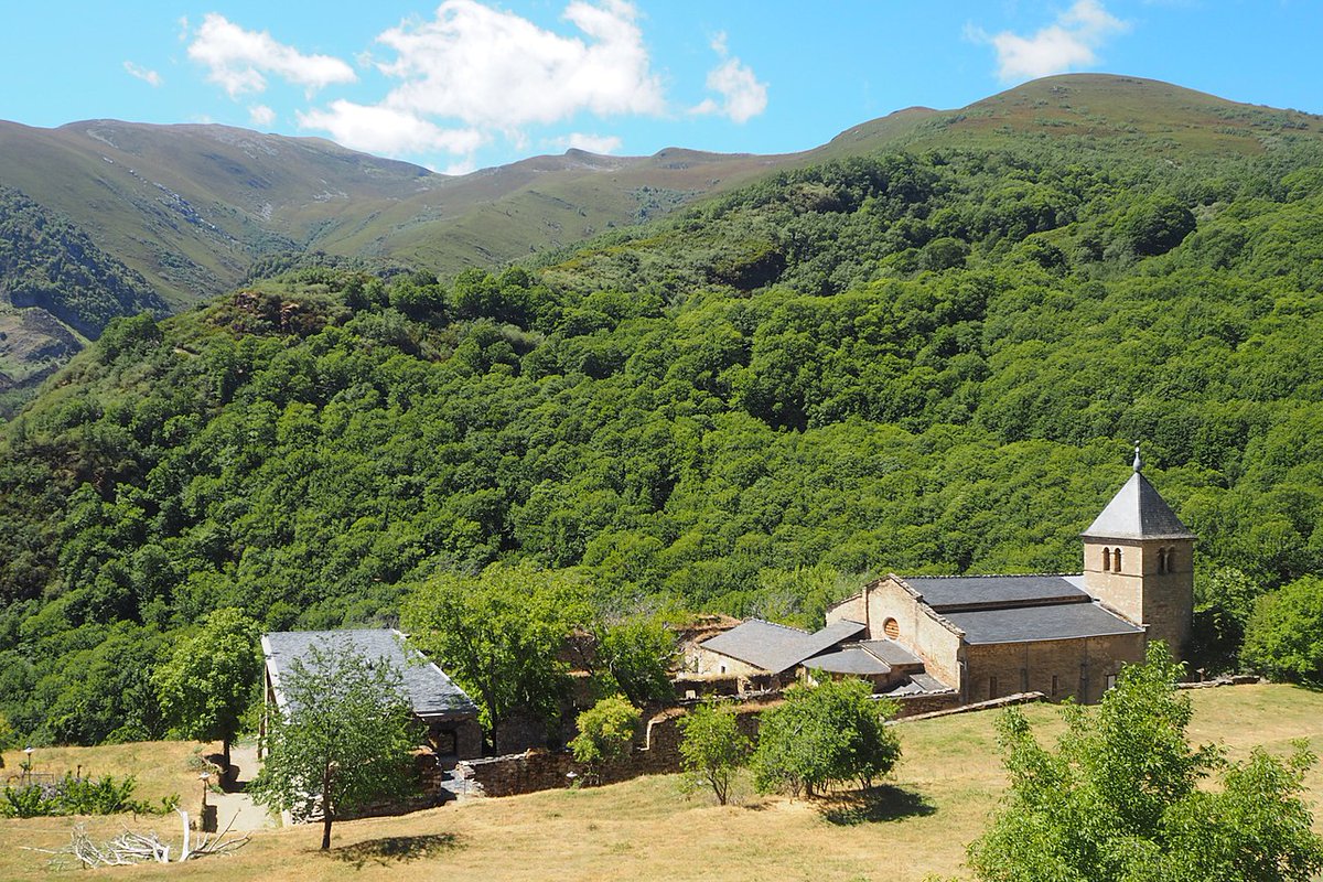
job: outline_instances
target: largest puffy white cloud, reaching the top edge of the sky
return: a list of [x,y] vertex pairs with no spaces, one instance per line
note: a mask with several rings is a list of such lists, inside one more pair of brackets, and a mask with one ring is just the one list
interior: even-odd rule
[[476,0],[446,0],[426,22],[406,22],[377,40],[396,52],[378,69],[404,82],[385,106],[509,132],[581,112],[662,114],[636,12],[623,0],[573,0],[562,36]]

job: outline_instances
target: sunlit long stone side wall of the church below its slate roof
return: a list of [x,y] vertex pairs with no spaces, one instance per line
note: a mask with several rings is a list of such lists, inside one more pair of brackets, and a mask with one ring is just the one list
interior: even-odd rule
[[963,701],[1041,692],[1049,701],[1091,703],[1123,664],[1143,661],[1144,635],[972,644],[964,649]]

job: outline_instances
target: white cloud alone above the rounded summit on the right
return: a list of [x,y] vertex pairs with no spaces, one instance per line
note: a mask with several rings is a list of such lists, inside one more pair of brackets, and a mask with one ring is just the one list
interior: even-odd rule
[[1097,61],[1097,50],[1107,37],[1130,25],[1114,17],[1098,0],[1077,0],[1057,20],[1032,37],[1003,30],[987,36],[972,30],[975,40],[991,42],[998,54],[998,75],[1003,81],[1036,79],[1060,74]]

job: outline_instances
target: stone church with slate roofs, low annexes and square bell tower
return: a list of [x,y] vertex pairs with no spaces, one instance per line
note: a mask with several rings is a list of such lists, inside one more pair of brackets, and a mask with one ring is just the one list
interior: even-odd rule
[[1082,573],[888,575],[827,611],[816,633],[750,620],[697,647],[700,673],[783,685],[860,676],[888,694],[959,703],[1041,692],[1095,702],[1151,640],[1181,657],[1193,620],[1195,536],[1134,473],[1082,533]]

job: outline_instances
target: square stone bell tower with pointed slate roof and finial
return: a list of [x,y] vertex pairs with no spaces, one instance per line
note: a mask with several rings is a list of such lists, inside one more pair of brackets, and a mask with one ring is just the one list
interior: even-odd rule
[[1183,659],[1195,615],[1195,534],[1143,476],[1130,476],[1084,537],[1084,588]]

